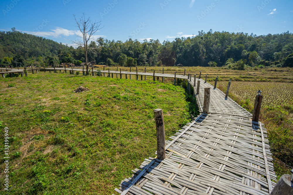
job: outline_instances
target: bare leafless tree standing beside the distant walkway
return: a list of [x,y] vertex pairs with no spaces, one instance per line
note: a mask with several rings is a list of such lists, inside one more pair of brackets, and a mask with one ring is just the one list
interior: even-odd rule
[[83,46],[84,47],[84,57],[86,59],[86,74],[88,74],[88,50],[94,49],[94,48],[89,48],[88,44],[90,43],[90,40],[94,40],[92,38],[93,34],[95,34],[95,32],[97,32],[98,30],[100,30],[100,25],[101,22],[92,22],[90,20],[90,18],[85,18],[84,13],[83,16],[81,16],[81,18],[79,20],[76,19],[75,15],[73,15],[74,20],[75,20],[75,24],[76,27],[79,28],[81,34],[76,34],[74,33],[74,35],[76,37],[80,37],[82,40],[78,40],[78,41],[72,41],[73,43],[75,43],[78,46]]

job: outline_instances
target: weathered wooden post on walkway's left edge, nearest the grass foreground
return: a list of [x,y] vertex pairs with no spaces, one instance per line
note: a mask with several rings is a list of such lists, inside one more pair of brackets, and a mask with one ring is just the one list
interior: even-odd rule
[[164,129],[164,117],[162,109],[155,109],[155,122],[156,122],[156,134],[157,134],[157,159],[165,159],[165,129]]

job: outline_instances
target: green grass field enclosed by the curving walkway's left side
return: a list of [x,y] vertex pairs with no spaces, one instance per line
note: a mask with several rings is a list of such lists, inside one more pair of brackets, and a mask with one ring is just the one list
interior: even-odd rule
[[[90,91],[74,93],[79,86]],[[155,157],[153,110],[163,109],[168,139],[191,108],[179,86],[59,72],[1,79],[0,98],[0,169],[8,127],[10,194],[115,194]]]

